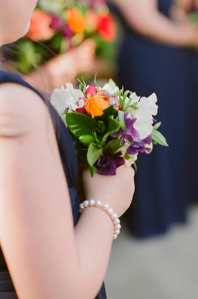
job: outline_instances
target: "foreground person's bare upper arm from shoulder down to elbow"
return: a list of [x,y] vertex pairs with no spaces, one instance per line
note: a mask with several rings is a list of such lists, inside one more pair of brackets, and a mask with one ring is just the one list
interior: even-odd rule
[[55,298],[76,267],[68,187],[45,103],[10,83],[0,86],[0,165],[0,241],[15,288],[21,299]]

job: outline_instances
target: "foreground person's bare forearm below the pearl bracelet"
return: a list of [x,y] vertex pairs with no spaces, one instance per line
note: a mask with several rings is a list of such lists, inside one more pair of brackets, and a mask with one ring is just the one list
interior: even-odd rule
[[[83,298],[94,298],[99,291],[109,262],[114,225],[101,208],[83,210],[75,228],[76,248],[80,263]],[[89,281],[89,288],[84,281]],[[93,296],[90,297],[90,294]]]

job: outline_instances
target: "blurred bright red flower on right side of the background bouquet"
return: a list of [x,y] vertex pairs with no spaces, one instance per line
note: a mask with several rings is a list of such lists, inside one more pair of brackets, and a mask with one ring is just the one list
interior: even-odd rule
[[110,14],[100,15],[98,17],[98,31],[107,42],[111,42],[115,39],[116,27],[114,19]]

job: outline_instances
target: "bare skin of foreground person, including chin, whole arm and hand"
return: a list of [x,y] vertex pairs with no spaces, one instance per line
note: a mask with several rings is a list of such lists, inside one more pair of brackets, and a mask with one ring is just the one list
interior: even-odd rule
[[[1,44],[27,32],[35,4],[0,0]],[[0,165],[0,245],[18,297],[95,298],[109,261],[112,220],[87,208],[74,228],[51,116],[36,93],[12,83],[0,85]],[[109,203],[118,216],[129,207],[132,168],[93,179],[85,168],[82,175],[86,199]]]

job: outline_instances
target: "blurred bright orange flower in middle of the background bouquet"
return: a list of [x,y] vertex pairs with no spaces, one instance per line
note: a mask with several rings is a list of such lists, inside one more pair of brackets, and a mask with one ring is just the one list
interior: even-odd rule
[[75,7],[69,8],[66,11],[66,18],[74,33],[80,33],[85,30],[85,20]]

